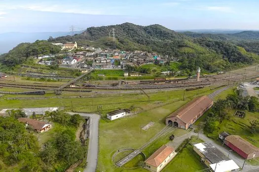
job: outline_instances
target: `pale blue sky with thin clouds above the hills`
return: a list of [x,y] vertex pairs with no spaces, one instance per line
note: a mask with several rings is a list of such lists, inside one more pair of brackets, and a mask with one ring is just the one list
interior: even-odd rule
[[169,29],[259,29],[259,0],[0,0],[0,33],[125,22]]

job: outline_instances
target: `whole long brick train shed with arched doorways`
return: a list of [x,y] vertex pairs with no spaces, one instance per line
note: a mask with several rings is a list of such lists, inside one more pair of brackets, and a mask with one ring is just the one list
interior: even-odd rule
[[187,130],[201,115],[213,105],[213,100],[208,96],[194,98],[183,107],[166,117],[166,125]]

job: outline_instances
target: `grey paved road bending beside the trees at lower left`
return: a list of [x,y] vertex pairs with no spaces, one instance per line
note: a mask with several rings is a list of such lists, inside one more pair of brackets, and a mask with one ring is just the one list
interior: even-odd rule
[[99,140],[99,119],[100,115],[85,113],[69,113],[71,115],[79,114],[90,119],[90,135],[87,153],[87,166],[84,172],[95,172],[98,160],[98,140]]

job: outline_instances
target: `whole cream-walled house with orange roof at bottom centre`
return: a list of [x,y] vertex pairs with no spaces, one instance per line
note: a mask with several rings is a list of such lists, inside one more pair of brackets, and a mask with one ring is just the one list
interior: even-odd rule
[[145,169],[151,172],[160,172],[176,154],[173,147],[162,145],[145,161]]

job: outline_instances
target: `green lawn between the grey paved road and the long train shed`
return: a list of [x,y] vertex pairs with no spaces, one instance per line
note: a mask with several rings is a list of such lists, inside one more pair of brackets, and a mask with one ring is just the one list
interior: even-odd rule
[[[187,101],[180,101],[109,123],[101,120],[97,171],[121,171],[122,168],[115,168],[115,165],[113,165],[111,160],[112,154],[121,148],[140,148],[165,126],[165,117],[186,102]],[[140,127],[145,126],[150,121],[155,122],[154,125],[147,131],[140,133]]]

